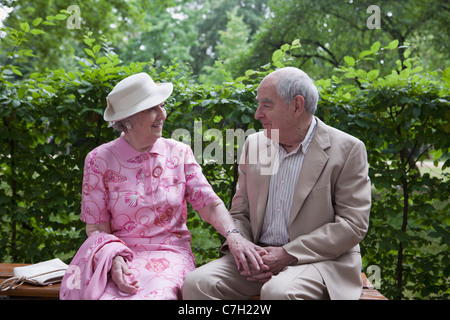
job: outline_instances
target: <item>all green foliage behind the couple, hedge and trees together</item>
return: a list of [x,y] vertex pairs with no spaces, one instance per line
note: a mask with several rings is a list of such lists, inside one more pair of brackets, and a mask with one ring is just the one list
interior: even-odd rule
[[[117,137],[102,114],[122,78],[172,82],[164,135],[185,128],[204,150],[210,129],[260,129],[258,83],[293,65],[316,79],[317,116],[367,146],[363,271],[380,267],[389,298],[448,298],[448,4],[382,1],[371,30],[369,2],[4,1],[13,10],[0,35],[0,260],[70,262],[85,239],[84,157]],[[81,29],[67,28],[73,4]],[[236,166],[198,160],[229,206]],[[216,258],[219,235],[188,218],[197,263]]]

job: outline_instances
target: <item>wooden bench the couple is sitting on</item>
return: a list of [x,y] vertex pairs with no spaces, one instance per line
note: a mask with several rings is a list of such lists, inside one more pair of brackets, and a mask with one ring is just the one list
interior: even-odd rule
[[[0,263],[0,283],[13,276],[15,267],[26,265],[22,263]],[[360,300],[387,300],[386,297],[374,288],[364,273],[361,273],[361,278],[363,291]],[[24,283],[16,289],[0,291],[0,299],[1,297],[9,297],[11,299],[59,299],[60,287],[60,283],[50,286],[36,286]],[[259,300],[259,297],[253,297],[251,300]]]

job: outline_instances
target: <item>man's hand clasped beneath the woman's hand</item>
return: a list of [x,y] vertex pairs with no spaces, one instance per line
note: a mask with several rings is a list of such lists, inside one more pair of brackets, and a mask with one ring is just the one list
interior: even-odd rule
[[282,247],[264,247],[264,249],[264,251],[260,251],[264,262],[262,267],[259,270],[251,268],[250,272],[241,272],[241,275],[246,276],[248,281],[265,283],[285,267],[297,262],[297,258],[287,253]]

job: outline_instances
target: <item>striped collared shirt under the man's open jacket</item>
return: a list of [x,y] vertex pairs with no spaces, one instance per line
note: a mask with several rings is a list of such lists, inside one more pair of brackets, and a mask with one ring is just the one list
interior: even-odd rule
[[279,157],[276,157],[274,167],[279,167],[270,178],[269,197],[259,239],[259,242],[262,244],[282,246],[290,241],[288,226],[292,199],[303,160],[314,136],[316,125],[317,120],[313,117],[305,139],[303,139],[297,149],[289,154],[286,153],[282,146],[278,145]]

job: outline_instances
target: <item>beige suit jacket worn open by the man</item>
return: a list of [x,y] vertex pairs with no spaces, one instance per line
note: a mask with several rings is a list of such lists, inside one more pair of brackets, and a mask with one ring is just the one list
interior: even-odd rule
[[[242,150],[231,215],[244,236],[258,243],[277,149],[263,132]],[[298,177],[290,213],[290,242],[283,248],[298,264],[314,264],[331,299],[359,299],[359,243],[367,233],[371,185],[364,144],[317,119]]]

